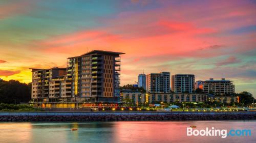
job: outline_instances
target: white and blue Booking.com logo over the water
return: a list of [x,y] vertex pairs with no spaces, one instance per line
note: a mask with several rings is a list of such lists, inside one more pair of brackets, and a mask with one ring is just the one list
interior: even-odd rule
[[251,136],[251,130],[249,129],[231,129],[229,131],[227,131],[226,129],[215,129],[214,127],[212,127],[211,129],[206,128],[206,129],[201,129],[201,130],[197,130],[188,127],[187,128],[187,136],[221,136],[221,138],[226,138],[227,136]]

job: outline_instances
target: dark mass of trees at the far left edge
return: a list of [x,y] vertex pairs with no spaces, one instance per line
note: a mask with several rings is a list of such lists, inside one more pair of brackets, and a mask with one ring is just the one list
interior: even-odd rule
[[0,82],[0,103],[29,102],[31,99],[31,84],[20,83],[17,80]]

